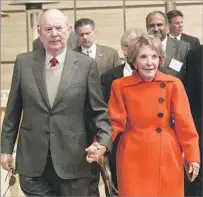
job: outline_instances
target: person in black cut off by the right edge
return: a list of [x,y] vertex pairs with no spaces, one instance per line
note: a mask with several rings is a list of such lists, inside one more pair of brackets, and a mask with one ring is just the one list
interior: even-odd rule
[[[199,134],[200,155],[202,156],[202,87],[203,87],[203,45],[189,51],[187,57],[187,72],[185,88],[190,101],[191,111]],[[202,192],[202,157],[200,171],[194,182],[186,184],[185,196],[203,196]]]

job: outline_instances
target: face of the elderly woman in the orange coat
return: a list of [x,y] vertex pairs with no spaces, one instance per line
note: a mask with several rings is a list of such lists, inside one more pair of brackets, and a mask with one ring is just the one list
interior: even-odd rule
[[148,45],[143,45],[137,54],[134,67],[144,81],[152,81],[159,67],[159,56]]

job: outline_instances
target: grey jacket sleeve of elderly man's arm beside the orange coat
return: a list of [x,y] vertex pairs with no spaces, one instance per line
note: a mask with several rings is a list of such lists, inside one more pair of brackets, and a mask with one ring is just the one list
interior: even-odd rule
[[104,102],[98,67],[93,60],[88,75],[88,101],[93,113],[96,140],[111,150],[112,127],[107,115],[107,104]]

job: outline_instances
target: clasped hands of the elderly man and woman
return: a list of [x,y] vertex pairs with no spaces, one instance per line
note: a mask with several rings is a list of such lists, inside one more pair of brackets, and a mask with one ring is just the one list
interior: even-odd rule
[[88,148],[85,149],[87,152],[86,160],[89,163],[92,163],[94,161],[98,162],[102,159],[102,156],[107,151],[106,146],[100,145],[98,142],[94,142],[92,145],[90,145]]

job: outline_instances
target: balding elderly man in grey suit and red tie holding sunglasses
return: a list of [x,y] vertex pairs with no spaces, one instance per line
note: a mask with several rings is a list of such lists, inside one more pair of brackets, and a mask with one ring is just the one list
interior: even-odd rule
[[[19,134],[16,170],[26,196],[88,196],[88,162],[100,159],[111,145],[99,72],[94,60],[67,48],[71,28],[61,11],[45,11],[39,26],[45,50],[16,58],[1,164],[13,168],[11,154]],[[93,111],[97,129],[97,142],[89,147],[86,110]]]

